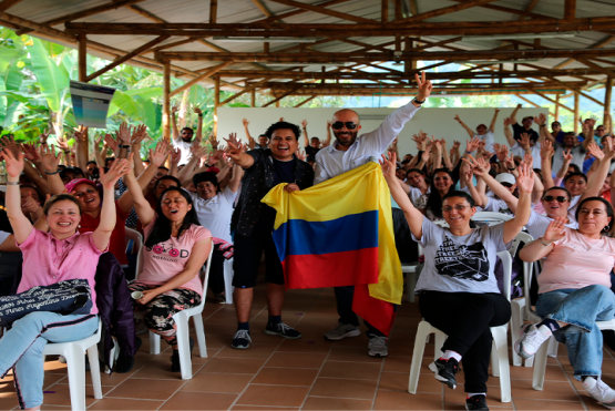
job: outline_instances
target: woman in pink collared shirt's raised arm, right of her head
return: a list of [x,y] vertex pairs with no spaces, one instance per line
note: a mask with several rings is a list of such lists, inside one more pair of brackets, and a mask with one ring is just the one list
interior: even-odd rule
[[132,158],[129,161],[126,158],[119,158],[113,161],[109,172],[104,172],[104,168],[99,168],[101,175],[100,182],[103,187],[103,201],[101,208],[101,219],[99,226],[92,233],[92,239],[96,245],[96,248],[104,251],[109,246],[109,240],[111,239],[111,233],[115,228],[116,212],[115,212],[115,198],[113,196],[113,191],[115,183],[122,178],[131,169]]

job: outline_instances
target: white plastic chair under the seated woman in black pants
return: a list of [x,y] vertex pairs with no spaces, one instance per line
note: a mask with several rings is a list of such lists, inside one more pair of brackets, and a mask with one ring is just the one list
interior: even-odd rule
[[[509,251],[498,253],[498,257],[502,260],[504,267],[504,295],[510,299],[511,295],[511,271],[512,257]],[[500,377],[500,394],[502,402],[511,402],[511,370],[509,364],[509,348],[506,343],[506,330],[509,325],[500,327],[491,327],[493,336],[493,349],[491,352],[491,373],[493,377]],[[408,392],[417,393],[419,377],[421,372],[421,363],[423,361],[424,347],[427,338],[430,333],[435,335],[434,360],[442,356],[440,348],[444,343],[447,336],[438,328],[431,326],[428,321],[421,320],[414,338],[414,351],[412,353],[412,364],[410,366],[410,380],[408,382]]]

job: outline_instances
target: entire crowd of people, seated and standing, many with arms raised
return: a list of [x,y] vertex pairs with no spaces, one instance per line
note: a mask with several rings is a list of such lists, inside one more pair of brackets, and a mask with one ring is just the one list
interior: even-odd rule
[[[322,141],[308,135],[306,121],[284,119],[254,138],[244,119],[246,143],[235,133],[224,141],[211,136],[207,150],[197,107],[196,132],[178,130],[173,110],[172,141],[160,141],[146,160],[141,158],[142,142],[148,138],[145,126],[122,124],[115,136],[95,138],[93,160],[82,150],[86,127],[74,132],[72,147],[61,137],[55,146],[48,144],[49,133],[30,144],[2,137],[8,182],[0,210],[0,296],[81,278],[89,281],[93,301],[85,315],[32,312],[6,330],[0,376],[13,370],[21,408],[39,410],[42,404],[45,343],[95,332],[96,267],[106,253],[123,268],[129,295],[136,296],[136,317],[173,348],[173,371],[181,371],[173,315],[206,298],[199,273],[212,248],[207,286],[214,302],[226,301],[225,260],[233,257],[237,329],[229,336],[230,347],[250,346],[250,309],[263,254],[268,309],[264,332],[301,338],[281,319],[285,277],[273,238],[276,212],[260,199],[280,183],[294,193],[369,162],[380,162],[390,188],[401,261],[418,260],[417,245],[424,254],[416,287],[420,312],[448,336],[438,347],[442,357],[430,364],[435,379],[454,389],[462,363],[467,409],[488,410],[490,327],[511,317],[510,296],[498,286],[496,254],[527,230],[534,240],[521,248],[519,258],[542,261],[535,289],[543,321],[512,330],[522,336],[515,350],[532,358],[554,336],[566,345],[574,377],[588,394],[615,408],[615,391],[601,379],[603,333],[595,323],[615,316],[615,141],[609,117],[597,127],[595,119],[582,121],[583,132],[576,135],[562,131],[558,122],[549,130],[542,114],[525,116],[520,124],[519,105],[503,120],[508,144],[501,144],[494,140],[498,109],[489,127],[479,124],[475,130],[455,115],[451,121],[469,137],[463,153],[460,141],[449,150],[444,138],[420,131],[412,138],[418,152],[401,156],[398,135],[432,89],[424,73],[416,81],[417,96],[377,130],[360,133],[359,114],[339,110],[326,121]],[[506,215],[508,220],[476,226],[472,217],[481,210]],[[127,230],[144,237],[140,264],[134,249],[126,248]],[[335,297],[339,320],[324,338],[360,336],[353,287],[336,287]],[[367,355],[388,356],[388,336],[367,321],[365,326]],[[604,341],[612,343],[614,337],[605,335]],[[191,339],[191,349],[193,345]],[[129,358],[116,371],[131,367]]]

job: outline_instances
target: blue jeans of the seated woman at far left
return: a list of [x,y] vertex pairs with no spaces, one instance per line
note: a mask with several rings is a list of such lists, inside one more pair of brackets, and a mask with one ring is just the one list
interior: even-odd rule
[[81,340],[96,332],[95,315],[62,316],[31,312],[14,321],[0,339],[0,377],[14,367],[14,384],[21,409],[43,403],[44,346]]

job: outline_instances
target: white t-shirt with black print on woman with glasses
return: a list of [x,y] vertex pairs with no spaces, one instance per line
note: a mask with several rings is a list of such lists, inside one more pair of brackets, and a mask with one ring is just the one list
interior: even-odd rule
[[504,251],[504,224],[473,228],[455,236],[423,218],[423,235],[418,242],[424,251],[424,267],[417,291],[500,294],[494,275],[499,251]]

